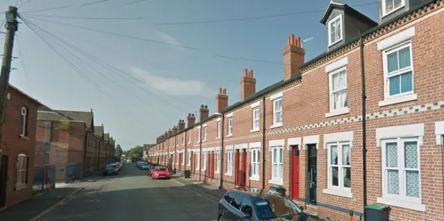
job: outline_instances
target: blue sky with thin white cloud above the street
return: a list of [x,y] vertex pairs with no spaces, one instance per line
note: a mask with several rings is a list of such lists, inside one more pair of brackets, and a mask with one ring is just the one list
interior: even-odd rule
[[[214,113],[219,87],[229,104],[239,101],[243,69],[253,70],[256,91],[282,80],[290,34],[313,37],[305,61],[323,53],[329,2],[1,0],[0,11],[17,5],[25,19],[10,83],[52,109],[92,109],[95,125],[129,150],[155,143],[200,105]],[[377,21],[377,0],[343,2]]]

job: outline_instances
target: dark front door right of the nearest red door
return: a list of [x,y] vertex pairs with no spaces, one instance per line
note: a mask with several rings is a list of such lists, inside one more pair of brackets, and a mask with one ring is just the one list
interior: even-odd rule
[[307,186],[308,186],[308,204],[316,205],[316,144],[308,145],[308,168],[307,168]]

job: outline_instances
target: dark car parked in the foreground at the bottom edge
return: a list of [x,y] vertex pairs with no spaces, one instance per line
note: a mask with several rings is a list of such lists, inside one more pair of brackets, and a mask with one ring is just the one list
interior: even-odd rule
[[292,220],[314,221],[293,200],[270,190],[248,188],[227,191],[219,200],[217,220]]

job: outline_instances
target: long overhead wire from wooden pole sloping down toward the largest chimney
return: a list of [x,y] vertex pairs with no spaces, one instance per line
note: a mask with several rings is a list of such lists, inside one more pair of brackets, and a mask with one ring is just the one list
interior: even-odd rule
[[[28,15],[21,15],[21,17],[29,17]],[[47,19],[42,19],[42,18],[37,18],[37,17],[33,17],[33,19],[37,19],[37,20],[42,20],[42,21],[46,21],[46,22],[50,22],[53,24],[60,24],[62,26],[69,26],[69,27],[74,27],[74,28],[79,28],[79,29],[83,29],[83,30],[89,30],[89,31],[93,31],[96,33],[103,33],[103,34],[108,34],[108,35],[114,35],[114,36],[118,36],[118,37],[126,37],[129,39],[136,39],[139,41],[143,41],[143,42],[150,42],[150,43],[155,43],[155,44],[163,44],[163,45],[167,45],[167,46],[176,46],[176,47],[180,47],[180,48],[185,48],[185,49],[189,49],[189,50],[194,50],[194,51],[203,51],[203,52],[207,52],[207,50],[203,49],[203,48],[196,48],[196,47],[191,47],[191,46],[183,46],[180,44],[171,44],[171,43],[167,43],[167,42],[160,42],[160,41],[156,41],[156,40],[152,40],[152,39],[145,39],[142,37],[134,37],[134,36],[130,36],[130,35],[122,35],[119,33],[111,33],[105,30],[97,30],[94,28],[85,28],[82,26],[76,26],[73,24],[66,24],[66,23],[62,23],[62,22],[58,22],[58,21],[50,21]],[[207,52],[209,53],[209,52]],[[211,54],[211,53],[210,53]],[[231,59],[231,60],[245,60],[245,61],[249,61],[249,62],[259,62],[259,63],[265,63],[265,64],[276,64],[276,65],[282,65],[282,63],[278,63],[278,62],[268,62],[268,61],[263,61],[263,60],[254,60],[254,59],[249,59],[249,58],[238,58],[238,57],[233,57],[233,56],[226,56],[226,55],[216,55],[216,54],[211,54],[214,57],[218,57],[218,58],[226,58],[226,59]]]

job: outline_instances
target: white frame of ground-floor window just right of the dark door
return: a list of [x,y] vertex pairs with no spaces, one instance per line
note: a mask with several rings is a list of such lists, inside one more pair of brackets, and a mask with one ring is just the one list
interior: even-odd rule
[[[344,145],[348,145],[350,148],[350,166],[342,164],[342,148]],[[342,168],[350,168],[351,171],[351,152],[352,152],[352,143],[350,141],[338,141],[338,142],[329,142],[326,144],[327,146],[327,189],[323,190],[323,193],[331,194],[331,195],[339,195],[342,197],[352,197],[352,188],[343,186],[343,170]],[[338,154],[338,164],[332,165],[331,156],[332,156],[332,146],[336,146],[336,151]],[[332,166],[336,166],[338,168],[338,186],[332,185]],[[350,180],[351,182],[351,180]]]

